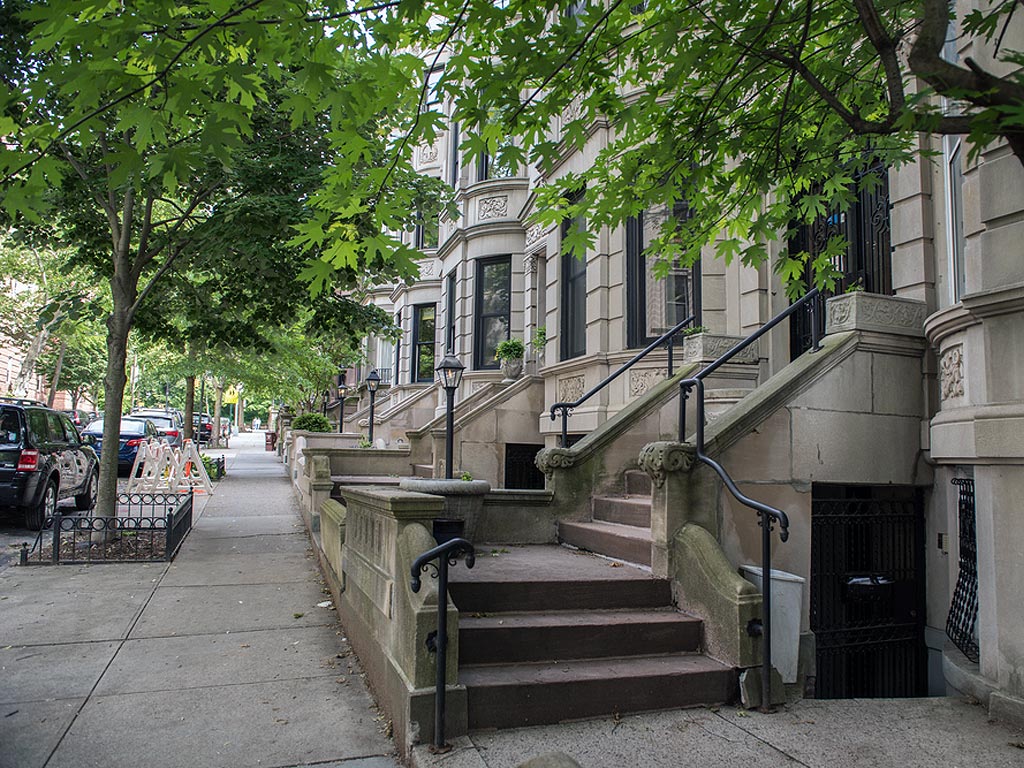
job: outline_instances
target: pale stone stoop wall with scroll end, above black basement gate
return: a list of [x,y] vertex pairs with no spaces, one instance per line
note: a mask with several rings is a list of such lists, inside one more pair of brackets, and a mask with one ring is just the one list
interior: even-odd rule
[[[864,304],[874,306],[865,310]],[[706,433],[706,451],[740,492],[790,517],[788,541],[774,536],[772,567],[807,582],[802,633],[809,633],[812,483],[931,483],[921,445],[924,303],[847,294],[829,300],[828,308],[830,335],[822,349],[801,356],[712,420]],[[710,635],[727,638],[726,620],[739,615],[742,601],[733,601],[725,613],[720,605],[719,615],[701,614],[707,601],[702,595],[693,599],[696,585],[687,572],[694,538],[681,531],[693,525],[707,530],[735,569],[760,566],[761,528],[757,514],[734,500],[710,467],[694,462],[693,446],[686,443],[651,443],[641,454],[654,488],[652,567],[672,575],[680,607],[700,615]],[[802,642],[802,654],[810,647]],[[739,651],[744,662],[757,663],[757,648]]]

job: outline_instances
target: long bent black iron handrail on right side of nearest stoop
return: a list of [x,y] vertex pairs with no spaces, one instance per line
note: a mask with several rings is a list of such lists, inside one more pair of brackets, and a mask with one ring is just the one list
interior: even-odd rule
[[[818,296],[818,290],[813,289],[804,295],[800,301],[792,304],[785,310],[779,312],[774,317],[772,317],[768,323],[763,325],[753,334],[748,336],[742,341],[736,343],[731,349],[729,349],[725,354],[716,359],[714,362],[706,366],[699,373],[689,379],[683,379],[679,382],[679,441],[686,441],[686,402],[689,398],[689,394],[692,390],[696,390],[696,408],[695,408],[695,418],[696,418],[696,435],[694,440],[695,455],[698,461],[708,465],[714,470],[721,479],[722,483],[732,495],[732,497],[745,507],[750,507],[758,514],[758,525],[761,526],[761,582],[762,588],[762,620],[760,625],[752,625],[748,628],[748,631],[752,635],[760,634],[762,637],[762,654],[761,654],[761,711],[771,712],[771,531],[774,529],[775,523],[778,523],[779,532],[778,538],[780,541],[786,541],[790,538],[790,518],[786,516],[785,512],[780,509],[775,509],[767,504],[762,504],[759,501],[751,499],[749,496],[743,494],[733,481],[729,473],[725,471],[725,468],[719,464],[717,461],[712,459],[705,453],[705,379],[707,379],[711,374],[717,371],[719,368],[728,362],[732,357],[741,352],[743,349],[749,347],[751,344],[756,342],[771,329],[775,328],[779,323],[784,321],[790,315],[801,311],[805,306],[809,306],[811,312],[816,312],[817,303],[815,299]],[[813,330],[813,338],[811,343],[811,352],[816,352],[821,348],[820,340],[817,335],[817,323],[813,322],[811,328]]]

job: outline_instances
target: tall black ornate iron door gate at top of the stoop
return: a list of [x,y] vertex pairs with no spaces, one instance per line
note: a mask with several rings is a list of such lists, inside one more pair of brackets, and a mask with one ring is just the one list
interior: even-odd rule
[[[813,223],[802,226],[790,242],[794,253],[810,254],[805,284],[813,285],[811,262],[825,250],[828,241],[836,237],[846,240],[846,251],[833,260],[833,266],[843,276],[833,291],[823,291],[818,301],[816,321],[818,338],[825,333],[824,301],[828,296],[848,289],[879,293],[886,296],[893,292],[892,241],[890,237],[889,174],[881,163],[867,168],[857,176],[857,199],[850,208],[819,216]],[[792,358],[811,348],[810,311],[799,312],[790,323],[790,351]]]

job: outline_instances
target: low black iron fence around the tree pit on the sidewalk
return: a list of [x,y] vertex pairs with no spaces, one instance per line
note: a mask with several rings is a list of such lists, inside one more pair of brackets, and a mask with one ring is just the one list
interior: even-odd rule
[[191,525],[191,490],[120,494],[115,517],[47,517],[32,549],[22,545],[20,564],[163,562],[174,557]]

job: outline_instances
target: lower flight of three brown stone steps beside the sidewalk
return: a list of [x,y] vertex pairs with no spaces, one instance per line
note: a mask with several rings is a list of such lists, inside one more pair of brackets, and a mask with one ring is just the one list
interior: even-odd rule
[[735,671],[700,654],[701,623],[672,605],[667,580],[557,546],[523,548],[557,568],[517,567],[513,549],[503,573],[505,555],[492,564],[483,549],[494,577],[450,585],[471,729],[735,697]]

